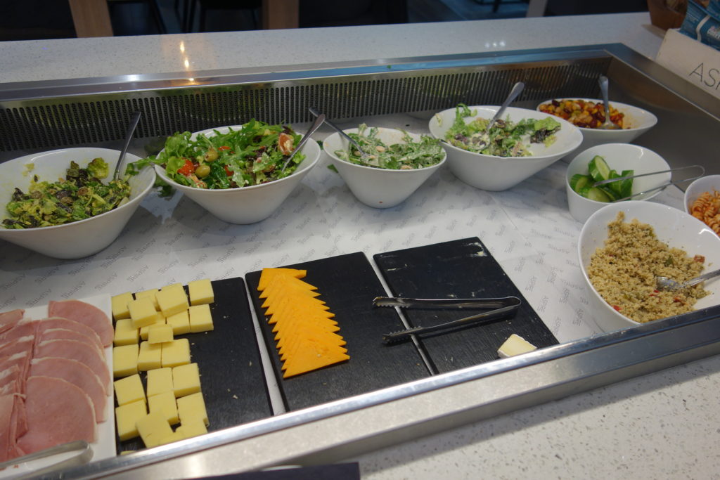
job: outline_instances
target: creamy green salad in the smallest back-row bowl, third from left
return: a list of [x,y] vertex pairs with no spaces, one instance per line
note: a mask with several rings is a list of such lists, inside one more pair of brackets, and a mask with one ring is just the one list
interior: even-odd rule
[[386,145],[378,137],[377,127],[368,128],[366,124],[360,124],[358,132],[349,135],[369,155],[368,158],[362,158],[354,145],[350,145],[349,151],[336,150],[335,154],[350,163],[388,170],[425,168],[436,165],[445,157],[445,150],[435,138],[420,135],[420,140],[415,140],[408,132],[400,131],[403,133],[402,143]]

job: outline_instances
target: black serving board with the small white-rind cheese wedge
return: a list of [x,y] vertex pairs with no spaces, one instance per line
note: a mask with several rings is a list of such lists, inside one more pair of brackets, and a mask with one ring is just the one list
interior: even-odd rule
[[[516,333],[538,348],[558,343],[500,264],[477,237],[378,253],[374,261],[394,296],[411,298],[487,298],[517,296],[514,317],[491,320],[451,332],[420,335],[433,373],[445,373],[498,358],[498,348]],[[482,309],[403,309],[413,326],[457,320]]]

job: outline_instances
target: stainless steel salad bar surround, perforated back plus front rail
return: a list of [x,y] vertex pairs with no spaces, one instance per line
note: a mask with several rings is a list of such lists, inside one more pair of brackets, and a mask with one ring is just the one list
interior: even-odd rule
[[[33,150],[119,140],[136,109],[143,112],[136,142],[150,151],[158,139],[179,130],[239,124],[251,117],[307,122],[310,106],[331,119],[354,119],[401,112],[429,116],[459,101],[498,104],[516,81],[526,82],[518,103],[527,107],[558,96],[597,97],[601,73],[613,83],[613,98],[652,105],[660,117],[641,145],[664,155],[673,167],[701,159],[706,173],[720,173],[711,160],[716,151],[709,140],[720,122],[720,100],[618,44],[303,65],[271,73],[248,69],[198,72],[192,78],[183,73],[7,83],[0,85],[0,160]],[[673,122],[662,122],[662,117],[683,120],[685,130],[672,132],[685,136],[682,145],[667,142],[671,132],[665,125]],[[179,478],[336,461],[716,353],[720,307],[117,456],[48,478]],[[434,402],[436,414],[416,414],[415,402]],[[387,427],[366,430],[361,417],[387,415],[379,408],[388,404],[397,408]],[[342,431],[313,445],[300,441],[283,445],[282,451],[269,450],[264,461],[253,465],[243,463],[238,453],[264,448],[276,435],[302,438],[318,423],[338,425]]]

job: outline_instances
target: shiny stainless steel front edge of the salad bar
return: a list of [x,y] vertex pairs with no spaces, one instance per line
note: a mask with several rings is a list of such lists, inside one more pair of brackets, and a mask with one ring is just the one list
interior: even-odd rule
[[[187,478],[340,461],[720,353],[720,307],[536,350],[45,478]],[[312,442],[308,439],[312,438]]]

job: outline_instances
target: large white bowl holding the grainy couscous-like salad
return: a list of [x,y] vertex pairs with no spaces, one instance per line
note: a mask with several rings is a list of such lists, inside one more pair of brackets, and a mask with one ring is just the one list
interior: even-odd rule
[[[606,332],[642,325],[613,309],[598,294],[588,277],[590,257],[595,253],[595,249],[603,247],[608,237],[608,223],[612,222],[621,211],[625,212],[626,222],[636,218],[639,222],[652,225],[657,238],[670,247],[682,248],[688,255],[705,255],[705,271],[711,271],[720,265],[720,237],[700,220],[681,210],[654,201],[630,200],[606,204],[590,215],[580,231],[580,239],[577,243],[577,255],[582,277],[588,286],[590,308],[598,327]],[[720,281],[709,281],[704,288],[712,294],[699,299],[695,309],[711,307],[720,302]]]

